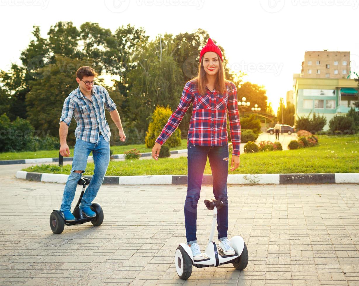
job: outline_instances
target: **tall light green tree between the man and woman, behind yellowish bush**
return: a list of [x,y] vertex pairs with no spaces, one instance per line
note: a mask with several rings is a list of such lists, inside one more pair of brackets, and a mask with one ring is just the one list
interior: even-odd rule
[[173,110],[181,98],[184,83],[181,83],[180,68],[161,47],[160,37],[144,46],[135,57],[137,68],[128,74],[132,84],[125,94],[126,120],[134,122],[133,128],[138,131],[147,130],[147,118],[155,106],[168,105]]

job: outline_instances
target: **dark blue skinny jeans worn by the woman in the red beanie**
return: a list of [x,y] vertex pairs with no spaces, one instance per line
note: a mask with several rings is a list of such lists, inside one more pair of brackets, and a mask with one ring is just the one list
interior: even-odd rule
[[223,146],[198,146],[188,142],[187,196],[185,201],[185,224],[187,244],[197,243],[197,203],[200,198],[203,173],[209,158],[213,178],[213,193],[216,200],[223,201],[218,211],[218,239],[227,238],[228,231],[228,144]]

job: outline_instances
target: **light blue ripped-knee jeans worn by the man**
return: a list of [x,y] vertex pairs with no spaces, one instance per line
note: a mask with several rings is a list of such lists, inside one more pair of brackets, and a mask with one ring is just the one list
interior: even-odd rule
[[[106,142],[101,134],[98,137],[97,143],[90,143],[76,138],[74,160],[72,161],[71,173],[66,181],[64,196],[62,197],[60,207],[61,211],[71,210],[71,203],[74,200],[77,183],[81,178],[82,173],[85,172],[87,158],[91,151],[95,163],[95,169],[93,171],[94,175],[84,193],[80,207],[84,208],[90,206],[96,197],[97,192],[102,185],[110,160],[109,142]],[[74,171],[81,171],[82,173]]]

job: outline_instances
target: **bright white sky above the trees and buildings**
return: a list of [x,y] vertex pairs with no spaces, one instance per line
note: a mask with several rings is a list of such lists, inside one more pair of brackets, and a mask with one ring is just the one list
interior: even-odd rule
[[358,15],[359,0],[0,0],[0,69],[21,63],[33,25],[46,37],[59,21],[112,32],[131,24],[151,39],[201,28],[224,48],[230,70],[264,86],[276,112],[305,51],[350,51],[351,70],[359,71]]

